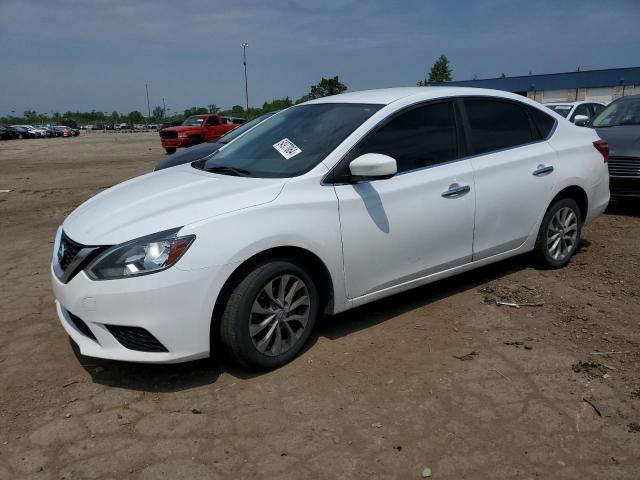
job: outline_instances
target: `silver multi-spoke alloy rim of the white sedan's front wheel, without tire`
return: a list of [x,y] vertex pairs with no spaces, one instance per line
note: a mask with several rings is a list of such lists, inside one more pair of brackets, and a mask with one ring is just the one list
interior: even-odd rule
[[311,312],[307,285],[284,274],[270,280],[258,293],[249,315],[249,334],[256,349],[281,355],[300,339]]

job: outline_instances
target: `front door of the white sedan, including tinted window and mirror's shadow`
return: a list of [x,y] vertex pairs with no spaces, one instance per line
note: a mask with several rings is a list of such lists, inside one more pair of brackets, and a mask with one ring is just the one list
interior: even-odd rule
[[453,103],[429,103],[394,116],[349,156],[398,164],[390,179],[334,186],[349,298],[471,260],[473,169],[457,159],[458,132]]

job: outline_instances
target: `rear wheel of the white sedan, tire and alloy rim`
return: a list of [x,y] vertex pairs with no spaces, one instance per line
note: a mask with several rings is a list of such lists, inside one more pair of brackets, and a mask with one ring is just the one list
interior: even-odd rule
[[545,213],[534,256],[543,268],[562,268],[569,263],[580,246],[582,215],[580,207],[572,198],[561,198]]

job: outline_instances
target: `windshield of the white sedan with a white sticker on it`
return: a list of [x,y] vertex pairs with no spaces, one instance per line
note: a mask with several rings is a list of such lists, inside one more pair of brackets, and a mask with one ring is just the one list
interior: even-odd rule
[[299,105],[256,126],[195,168],[252,177],[301,175],[321,162],[382,105]]

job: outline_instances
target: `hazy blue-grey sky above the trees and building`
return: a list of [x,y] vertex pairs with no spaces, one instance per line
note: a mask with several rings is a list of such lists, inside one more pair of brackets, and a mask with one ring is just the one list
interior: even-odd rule
[[146,113],[415,85],[444,53],[456,80],[638,66],[640,1],[0,0],[0,115]]

